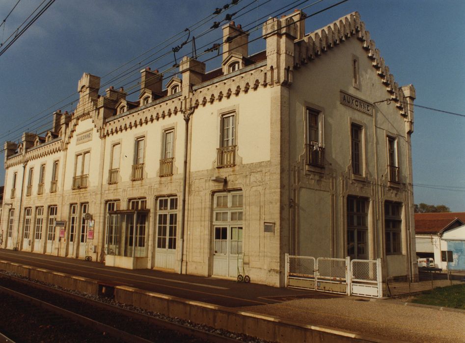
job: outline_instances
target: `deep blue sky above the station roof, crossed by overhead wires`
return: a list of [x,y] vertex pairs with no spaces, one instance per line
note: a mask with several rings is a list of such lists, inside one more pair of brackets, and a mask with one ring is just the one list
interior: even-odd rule
[[[0,1],[0,20],[16,2]],[[0,40],[3,42],[40,2],[20,1],[5,25],[0,27]],[[72,111],[75,102],[68,107],[64,105],[77,98],[77,82],[83,72],[103,77],[145,51],[148,52],[123,69],[103,77],[101,83],[131,66],[134,66],[134,73],[102,89],[109,85],[128,89],[137,82],[138,71],[146,66],[161,71],[168,69],[173,64],[171,47],[181,44],[183,36],[177,36],[180,38],[177,41],[170,40],[162,51],[157,52],[164,45],[150,49],[228,2],[230,0],[55,1],[0,56],[0,141],[18,141],[24,131],[47,129],[38,128],[38,122],[32,121],[43,116],[50,121],[52,117],[47,114],[56,109]],[[248,5],[234,19],[236,24],[252,29],[263,21],[262,17],[268,18],[286,4],[286,13],[290,13],[312,2],[315,0],[242,0],[192,32],[194,36],[200,36],[205,30],[208,32],[196,41],[197,52],[203,52],[206,47],[202,46],[209,44],[209,47],[220,38],[220,29],[209,30],[209,27],[213,21],[222,20],[226,13]],[[304,11],[311,14],[336,2],[324,0]],[[349,0],[307,19],[306,32],[353,11],[360,13],[398,84],[415,86],[416,104],[465,114],[465,1]],[[242,16],[237,18],[239,15]],[[260,34],[261,30],[252,31],[250,39]],[[259,39],[249,48],[249,53],[264,48],[264,41]],[[164,53],[163,58],[148,63]],[[177,57],[190,53],[191,46],[187,45]],[[214,55],[214,52],[205,54],[199,59]],[[213,59],[207,63],[207,69],[217,68],[219,63],[218,58]],[[71,97],[55,105],[68,96]],[[465,211],[465,118],[416,107],[414,130],[413,183],[418,185],[414,187],[415,203],[445,204],[452,211]],[[1,160],[3,157],[0,153]],[[0,184],[3,179],[4,171],[0,168]],[[453,190],[443,189],[444,186],[453,187]]]

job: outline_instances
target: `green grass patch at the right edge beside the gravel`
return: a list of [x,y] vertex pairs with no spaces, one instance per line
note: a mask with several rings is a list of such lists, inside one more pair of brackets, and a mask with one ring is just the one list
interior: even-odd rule
[[411,302],[465,310],[465,284],[438,287],[415,296]]

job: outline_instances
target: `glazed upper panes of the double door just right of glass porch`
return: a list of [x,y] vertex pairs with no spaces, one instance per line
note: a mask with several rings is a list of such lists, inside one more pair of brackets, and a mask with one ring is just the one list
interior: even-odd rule
[[176,249],[178,198],[158,199],[157,248]]

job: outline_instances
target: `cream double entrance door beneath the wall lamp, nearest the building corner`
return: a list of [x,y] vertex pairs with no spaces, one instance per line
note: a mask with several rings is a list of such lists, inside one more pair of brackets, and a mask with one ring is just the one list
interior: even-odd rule
[[[237,277],[238,256],[243,257],[243,194],[214,196],[213,275]],[[243,264],[241,263],[241,269]],[[239,270],[242,274],[243,270]]]

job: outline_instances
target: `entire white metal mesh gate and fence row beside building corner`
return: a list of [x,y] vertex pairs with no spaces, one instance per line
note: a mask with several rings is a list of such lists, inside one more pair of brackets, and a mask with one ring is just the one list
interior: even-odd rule
[[336,294],[382,297],[381,259],[290,256],[286,254],[286,287]]

